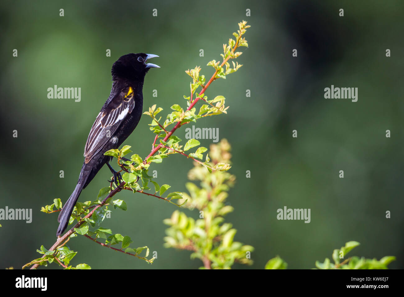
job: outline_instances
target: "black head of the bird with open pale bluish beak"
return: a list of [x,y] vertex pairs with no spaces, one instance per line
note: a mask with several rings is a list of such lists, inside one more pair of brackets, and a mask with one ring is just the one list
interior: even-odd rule
[[156,64],[146,63],[148,59],[154,57],[158,57],[158,55],[139,53],[120,57],[114,65],[112,65],[112,80],[123,78],[143,81],[150,68],[160,68],[160,66]]

